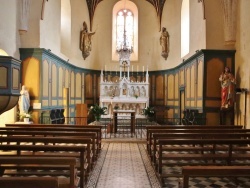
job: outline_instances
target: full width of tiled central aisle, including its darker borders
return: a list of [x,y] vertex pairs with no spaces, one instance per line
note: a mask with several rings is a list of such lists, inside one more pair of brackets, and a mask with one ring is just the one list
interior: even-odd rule
[[141,140],[136,142],[116,139],[102,142],[102,153],[87,187],[161,187]]

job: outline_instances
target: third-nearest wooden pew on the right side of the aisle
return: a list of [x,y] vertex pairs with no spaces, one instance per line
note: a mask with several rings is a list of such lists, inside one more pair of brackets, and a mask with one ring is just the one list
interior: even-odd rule
[[[158,140],[159,139],[232,139],[232,138],[249,138],[250,137],[250,132],[246,132],[246,133],[219,133],[218,131],[214,132],[214,133],[207,133],[207,132],[200,132],[200,133],[154,133],[152,134],[152,145],[151,147],[151,151],[152,153],[150,153],[149,155],[151,156],[151,160],[153,162],[153,164],[155,164],[155,154],[156,154],[156,148],[158,145]],[[202,146],[201,146],[202,147]],[[178,148],[174,147],[163,147],[163,151],[171,151],[171,150],[177,150]],[[180,151],[199,151],[202,148],[200,147],[185,147],[185,148],[179,148]],[[226,148],[227,149],[227,148]],[[226,150],[225,149],[225,150]]]

